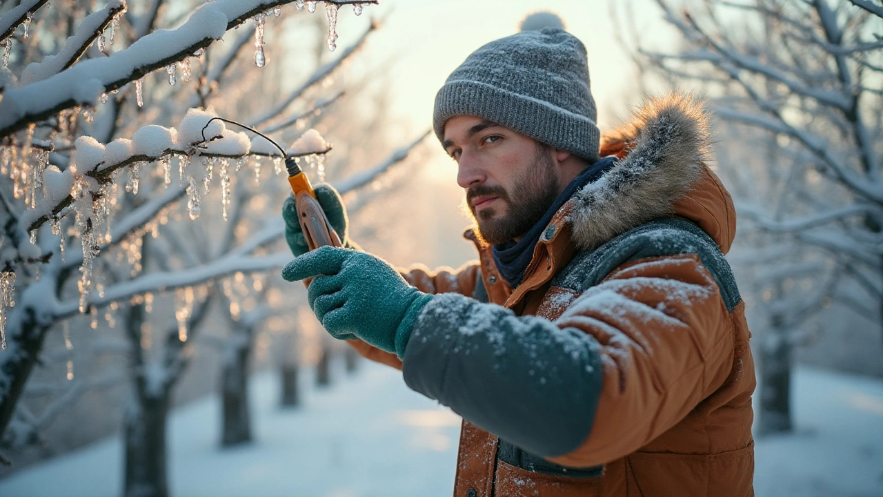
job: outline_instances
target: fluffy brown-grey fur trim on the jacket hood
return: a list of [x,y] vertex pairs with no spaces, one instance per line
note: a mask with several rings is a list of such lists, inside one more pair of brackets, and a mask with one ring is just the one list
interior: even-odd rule
[[680,95],[645,103],[628,124],[604,134],[602,157],[624,157],[570,200],[577,246],[598,248],[632,227],[672,215],[672,204],[702,171],[709,140],[702,103]]

